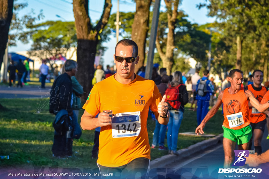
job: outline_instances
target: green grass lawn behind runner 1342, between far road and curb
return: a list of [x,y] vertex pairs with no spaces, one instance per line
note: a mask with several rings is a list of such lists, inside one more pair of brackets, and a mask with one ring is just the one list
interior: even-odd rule
[[[4,108],[0,109],[0,155],[9,155],[9,159],[0,159],[0,167],[27,167],[44,165],[44,161],[52,166],[96,168],[96,159],[91,159],[94,130],[83,130],[80,139],[74,139],[73,152],[76,158],[55,159],[52,157],[54,129],[52,122],[54,115],[48,109],[42,109],[38,114],[36,110],[47,99],[0,99]],[[186,109],[188,109],[188,105]],[[80,117],[83,110],[80,110]],[[205,133],[222,133],[223,116],[221,111],[207,123]],[[179,132],[194,132],[197,127],[196,112],[186,111]],[[152,143],[155,122],[149,117],[147,120],[150,145]],[[178,149],[186,148],[192,144],[205,140],[200,136],[179,136]],[[165,140],[166,141],[166,140]],[[165,144],[167,145],[167,144]],[[166,155],[167,151],[151,149],[151,160]]]

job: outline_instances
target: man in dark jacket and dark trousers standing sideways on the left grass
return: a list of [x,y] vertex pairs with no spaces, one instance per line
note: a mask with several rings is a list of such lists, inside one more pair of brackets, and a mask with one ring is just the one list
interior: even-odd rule
[[[73,88],[71,76],[76,75],[77,63],[73,60],[67,60],[64,68],[65,73],[58,76],[53,83],[49,100],[49,112],[56,115],[59,111],[65,109],[68,111],[68,115],[73,118]],[[54,133],[52,153],[55,157],[61,158],[65,156],[72,156],[73,140],[66,140],[66,132],[67,131],[62,131],[59,133],[55,131]]]

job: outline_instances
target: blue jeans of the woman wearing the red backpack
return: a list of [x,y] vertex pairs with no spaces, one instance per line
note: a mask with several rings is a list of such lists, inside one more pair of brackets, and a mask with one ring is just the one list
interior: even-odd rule
[[167,131],[167,144],[168,149],[176,151],[178,145],[178,131],[183,119],[183,112],[180,110],[171,110],[170,118],[168,122],[168,131]]

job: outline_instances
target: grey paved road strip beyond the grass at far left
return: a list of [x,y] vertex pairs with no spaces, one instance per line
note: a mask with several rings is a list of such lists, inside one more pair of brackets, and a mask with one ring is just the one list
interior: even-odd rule
[[51,86],[46,86],[45,89],[41,89],[41,86],[36,85],[8,88],[0,85],[0,98],[40,98],[46,96],[50,88]]

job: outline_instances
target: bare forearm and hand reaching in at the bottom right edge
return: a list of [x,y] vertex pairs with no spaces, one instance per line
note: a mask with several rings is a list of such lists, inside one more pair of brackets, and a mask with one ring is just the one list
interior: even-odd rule
[[269,150],[261,155],[257,155],[257,153],[249,154],[249,156],[246,158],[246,164],[249,164],[250,167],[256,167],[266,162],[269,162]]

